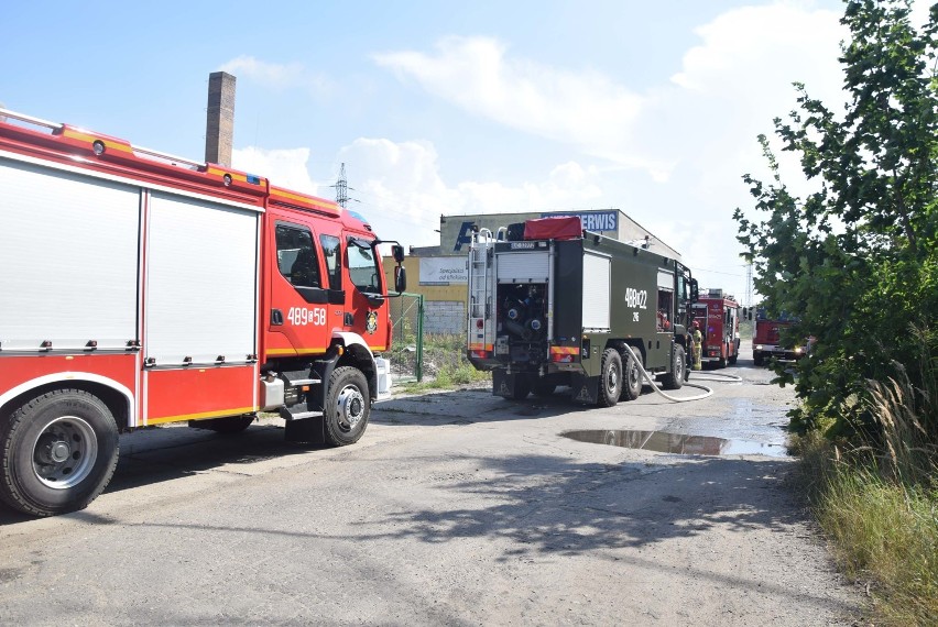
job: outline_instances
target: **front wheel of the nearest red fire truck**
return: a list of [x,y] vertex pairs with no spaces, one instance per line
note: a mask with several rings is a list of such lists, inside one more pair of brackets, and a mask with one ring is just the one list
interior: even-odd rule
[[329,376],[329,393],[323,411],[326,442],[332,447],[356,443],[371,415],[368,381],[353,366],[341,366]]

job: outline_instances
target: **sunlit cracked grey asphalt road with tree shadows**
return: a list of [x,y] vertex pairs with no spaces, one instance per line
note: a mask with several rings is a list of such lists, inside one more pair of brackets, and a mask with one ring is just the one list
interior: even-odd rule
[[860,596],[778,457],[790,391],[740,366],[680,404],[395,398],[342,449],[280,420],[130,433],[86,510],[0,509],[0,624],[851,625]]

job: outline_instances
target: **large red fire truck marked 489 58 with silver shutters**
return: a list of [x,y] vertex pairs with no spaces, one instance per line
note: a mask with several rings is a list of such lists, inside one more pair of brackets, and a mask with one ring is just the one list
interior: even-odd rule
[[0,110],[0,499],[80,509],[151,425],[277,411],[356,442],[386,392],[379,243],[266,178]]

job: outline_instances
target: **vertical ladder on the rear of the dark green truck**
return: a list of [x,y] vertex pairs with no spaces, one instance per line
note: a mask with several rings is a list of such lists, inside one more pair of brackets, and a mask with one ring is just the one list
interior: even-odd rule
[[470,351],[494,350],[493,261],[495,238],[489,229],[472,233],[469,244],[469,311],[466,338]]

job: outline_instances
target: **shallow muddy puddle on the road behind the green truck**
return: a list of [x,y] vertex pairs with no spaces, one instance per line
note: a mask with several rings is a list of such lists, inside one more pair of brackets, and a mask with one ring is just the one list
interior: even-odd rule
[[686,436],[666,431],[581,430],[565,431],[565,438],[591,444],[608,444],[626,449],[642,449],[658,453],[679,453],[684,455],[767,455],[788,457],[784,444],[765,444],[753,440],[731,440],[707,436]]

